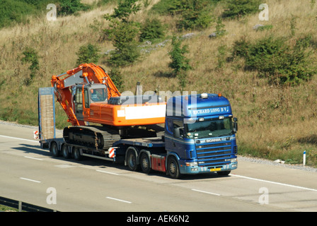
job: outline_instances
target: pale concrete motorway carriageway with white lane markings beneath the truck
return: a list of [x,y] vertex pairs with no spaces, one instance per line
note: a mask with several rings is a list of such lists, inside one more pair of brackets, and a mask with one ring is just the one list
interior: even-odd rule
[[[71,212],[317,211],[316,172],[238,160],[228,177],[170,179],[103,160],[52,157],[33,139],[35,130],[0,123],[0,196]],[[56,204],[47,202],[49,188]]]

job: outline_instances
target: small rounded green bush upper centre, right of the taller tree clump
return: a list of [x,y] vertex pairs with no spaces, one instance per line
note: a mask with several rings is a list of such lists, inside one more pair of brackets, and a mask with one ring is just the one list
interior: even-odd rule
[[156,40],[165,36],[166,28],[161,21],[154,18],[152,20],[146,19],[141,28],[141,35],[139,37],[141,42],[145,40]]

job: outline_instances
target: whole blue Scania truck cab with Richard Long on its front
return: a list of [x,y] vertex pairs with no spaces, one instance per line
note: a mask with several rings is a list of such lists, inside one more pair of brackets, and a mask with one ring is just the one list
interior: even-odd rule
[[236,169],[237,119],[221,94],[171,97],[166,107],[166,168],[173,178],[180,174]]

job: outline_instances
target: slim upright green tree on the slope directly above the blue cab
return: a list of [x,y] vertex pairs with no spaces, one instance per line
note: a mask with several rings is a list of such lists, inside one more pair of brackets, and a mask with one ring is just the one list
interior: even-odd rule
[[172,39],[172,49],[168,54],[171,56],[172,61],[168,66],[173,69],[173,73],[178,78],[180,87],[185,88],[186,86],[186,71],[192,69],[189,62],[190,60],[185,57],[185,54],[188,53],[188,45],[182,45],[182,40],[179,37],[173,37]]

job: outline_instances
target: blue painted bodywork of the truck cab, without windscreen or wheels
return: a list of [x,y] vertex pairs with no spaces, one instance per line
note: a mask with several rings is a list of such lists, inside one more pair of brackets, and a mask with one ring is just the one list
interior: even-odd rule
[[[216,94],[171,97],[166,109],[165,148],[168,155],[178,159],[180,173],[197,174],[236,169],[236,135],[213,138],[175,138],[171,131],[173,120],[194,123],[197,119],[219,119],[232,117],[231,105],[226,97]],[[199,154],[199,152],[202,152]],[[201,155],[204,155],[202,157]],[[231,162],[232,160],[232,162]],[[197,162],[191,166],[192,162]]]

